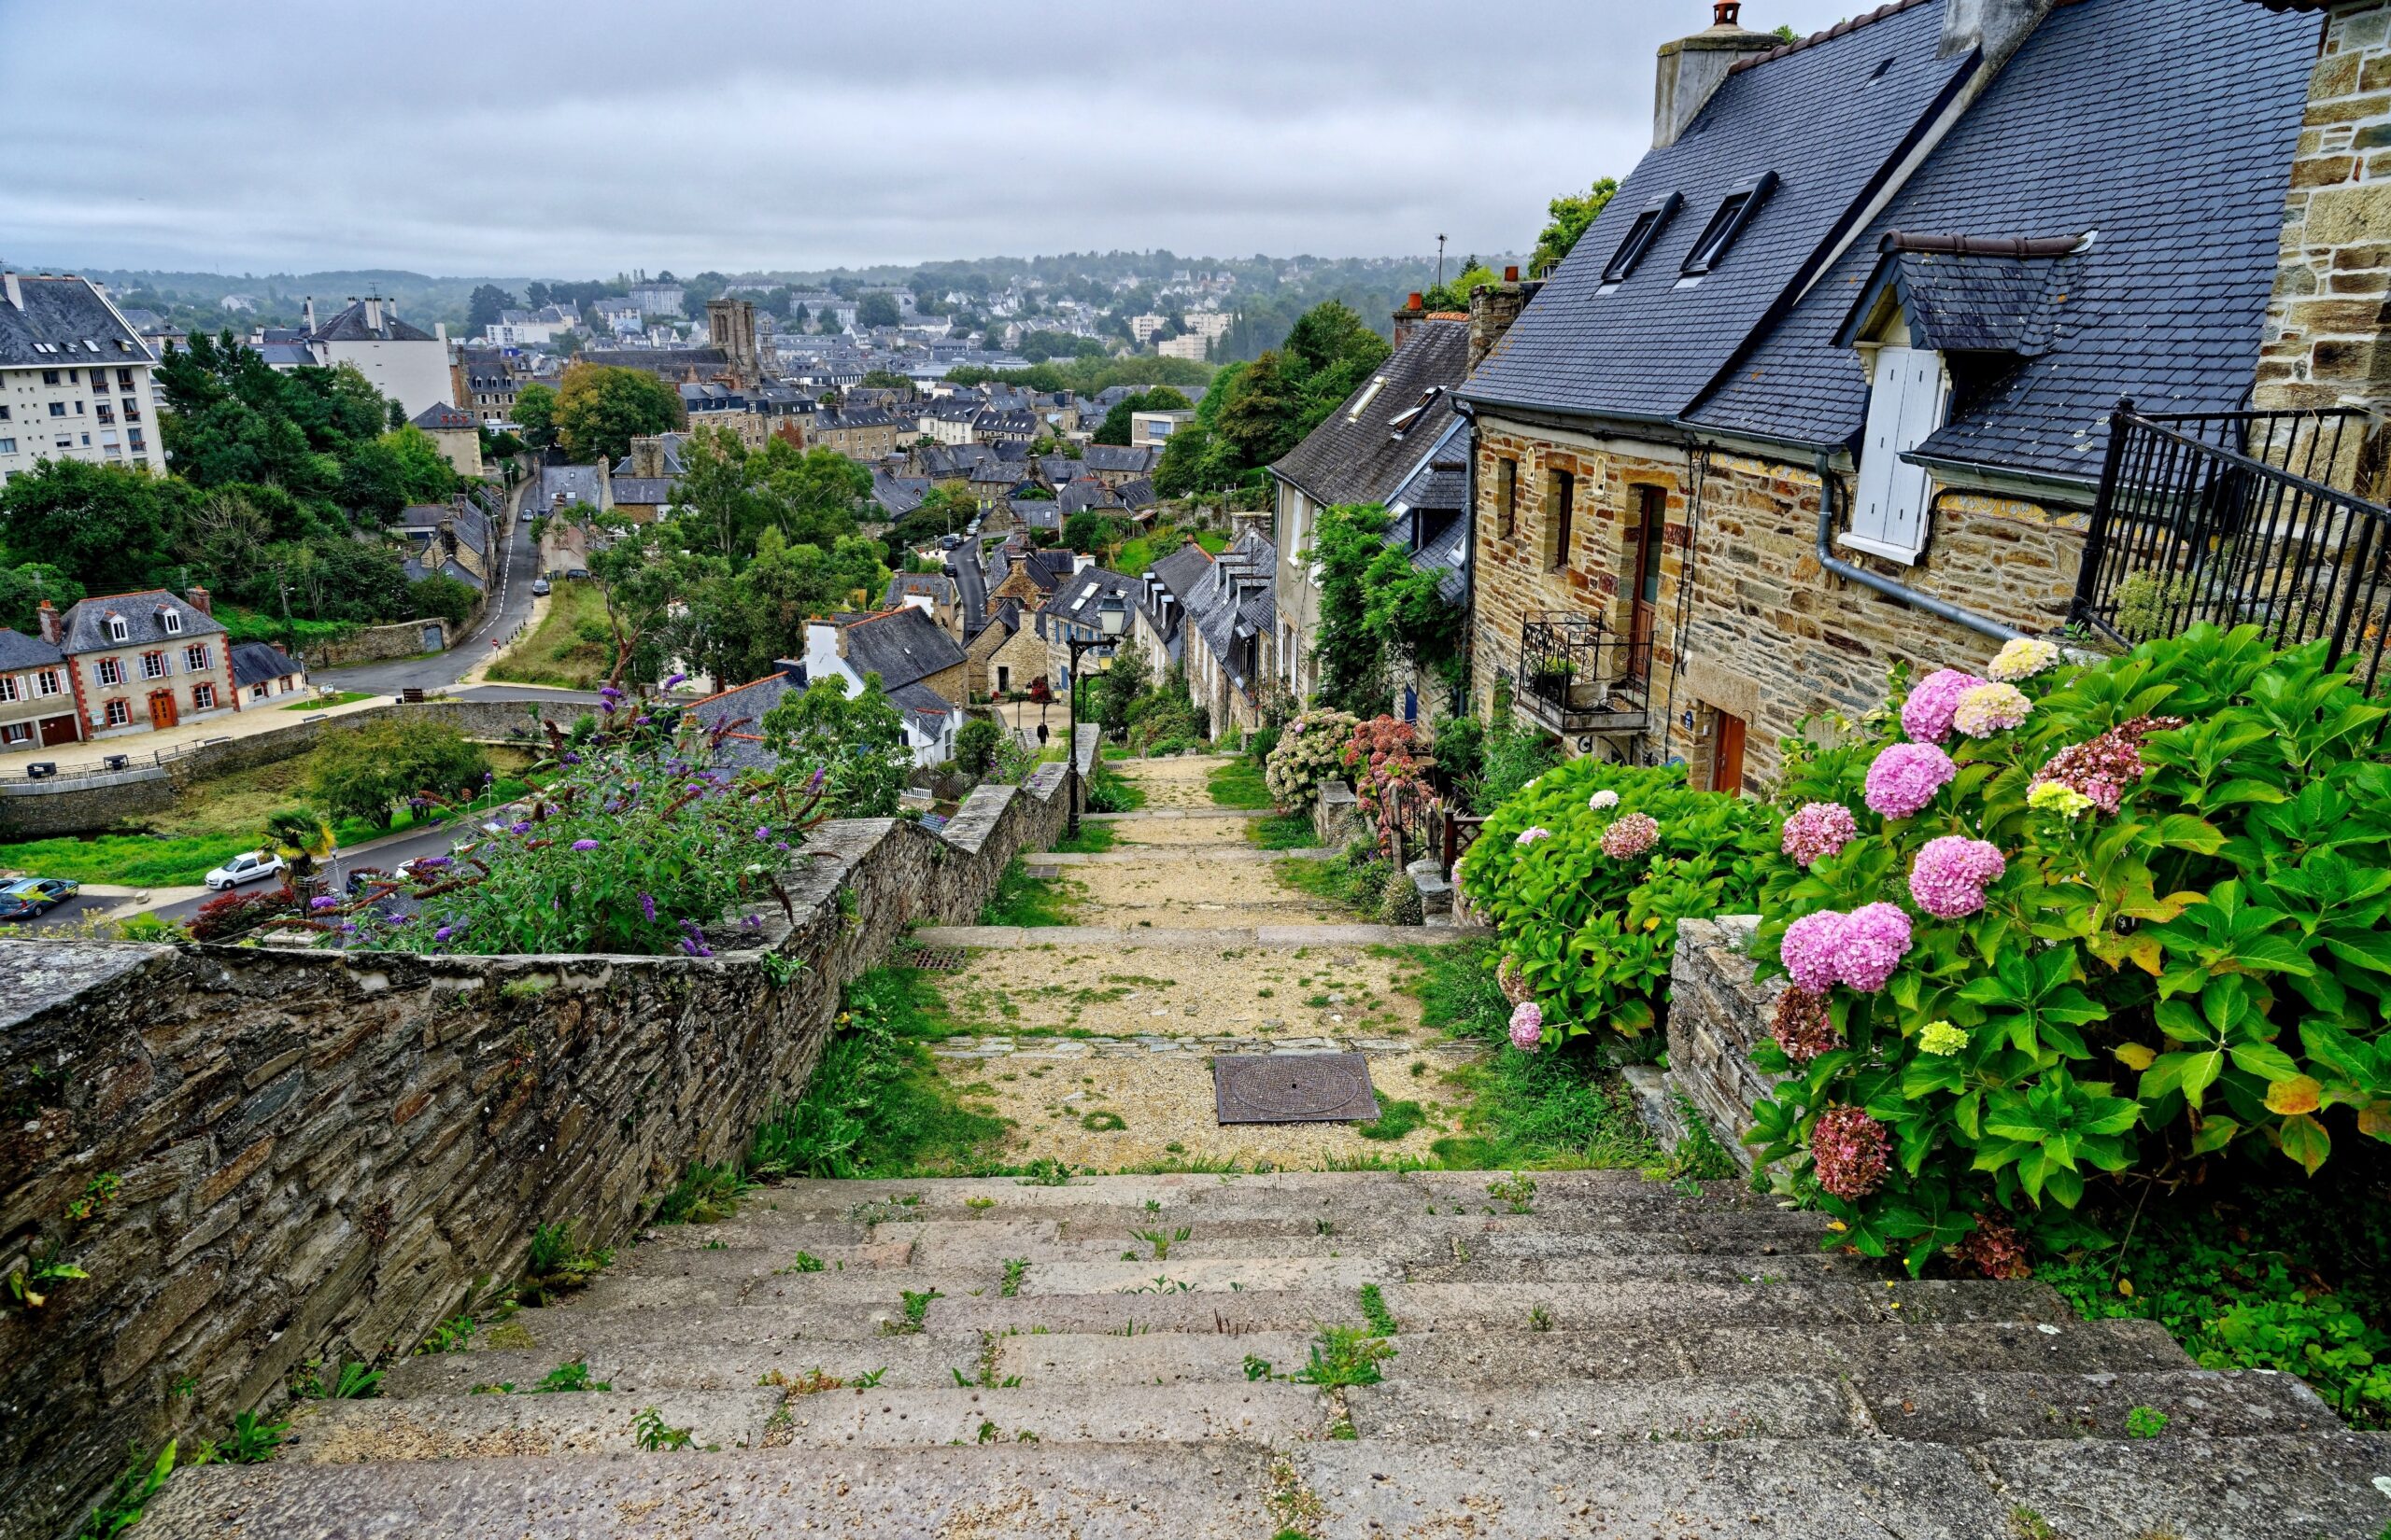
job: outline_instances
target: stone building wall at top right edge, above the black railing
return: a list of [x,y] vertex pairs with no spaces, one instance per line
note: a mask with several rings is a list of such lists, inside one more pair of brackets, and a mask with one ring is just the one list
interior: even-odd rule
[[2257,406],[2391,401],[2391,0],[2336,0],[2307,84]]

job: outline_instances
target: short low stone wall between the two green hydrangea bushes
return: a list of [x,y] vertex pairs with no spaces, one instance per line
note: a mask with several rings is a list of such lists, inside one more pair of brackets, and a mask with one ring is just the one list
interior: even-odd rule
[[[1784,979],[1753,981],[1757,965],[1745,953],[1757,926],[1757,914],[1681,919],[1676,960],[1669,965],[1664,1089],[1693,1103],[1743,1170],[1753,1168],[1753,1146],[1743,1144],[1743,1129],[1753,1127],[1753,1105],[1777,1084],[1774,1077],[1753,1070],[1750,1053],[1753,1043],[1769,1034],[1777,996],[1786,991]],[[1655,1108],[1650,1096],[1643,1101],[1655,1136],[1674,1144],[1676,1108]]]

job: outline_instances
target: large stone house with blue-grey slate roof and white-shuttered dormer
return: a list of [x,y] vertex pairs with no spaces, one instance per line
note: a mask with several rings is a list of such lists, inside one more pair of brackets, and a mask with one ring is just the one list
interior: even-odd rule
[[1571,258],[1475,296],[1518,318],[1459,396],[1475,704],[1741,788],[1896,661],[2068,621],[2121,396],[2248,404],[2317,24],[1719,14],[1662,50],[1652,153]]

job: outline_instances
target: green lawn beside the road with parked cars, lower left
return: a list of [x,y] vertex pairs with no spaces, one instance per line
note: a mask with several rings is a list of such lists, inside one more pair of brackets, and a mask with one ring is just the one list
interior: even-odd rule
[[[490,764],[500,781],[495,802],[524,795],[514,778],[531,762],[519,750],[493,747]],[[306,757],[261,764],[198,783],[184,793],[182,807],[151,819],[148,833],[98,833],[88,838],[19,840],[0,845],[0,869],[33,876],[65,876],[84,883],[120,883],[136,888],[191,888],[234,855],[258,848],[265,814],[301,802],[306,795]],[[390,828],[361,819],[342,821],[332,833],[342,848],[406,833],[414,817],[399,812]]]

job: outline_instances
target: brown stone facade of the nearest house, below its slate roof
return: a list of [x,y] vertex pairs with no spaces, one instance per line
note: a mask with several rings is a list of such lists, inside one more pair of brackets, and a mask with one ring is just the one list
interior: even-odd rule
[[[1499,509],[1502,458],[1521,466],[1518,516],[1509,532]],[[1578,478],[1564,568],[1547,566],[1549,470]],[[1631,752],[1681,757],[1698,783],[1710,771],[1714,712],[1748,723],[1745,783],[1767,788],[1779,738],[1798,731],[1805,716],[1867,714],[1882,702],[1884,676],[1896,661],[1980,666],[1994,652],[1975,630],[1829,575],[1817,561],[1820,482],[1810,468],[1724,451],[1688,456],[1561,439],[1487,418],[1478,485],[1473,700],[1480,709],[1494,680],[1516,671],[1528,614],[1597,614],[1614,635],[1628,635],[1635,487],[1667,487],[1652,733]],[[1839,506],[1848,492],[1846,478]],[[2042,633],[2066,621],[2083,523],[2075,511],[1939,489],[1932,540],[1918,566],[1841,554],[1920,592]]]

